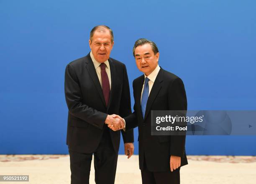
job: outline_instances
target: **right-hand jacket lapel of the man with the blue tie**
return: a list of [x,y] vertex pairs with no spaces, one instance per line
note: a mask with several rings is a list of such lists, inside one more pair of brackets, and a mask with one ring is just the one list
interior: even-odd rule
[[162,87],[161,82],[163,81],[163,72],[164,72],[163,69],[160,69],[158,72],[158,75],[156,76],[156,80],[155,80],[153,87],[150,91],[150,94],[148,96],[144,119],[146,119],[147,115],[151,111],[151,106],[152,106],[154,100],[156,99],[158,92],[161,90],[161,87]]

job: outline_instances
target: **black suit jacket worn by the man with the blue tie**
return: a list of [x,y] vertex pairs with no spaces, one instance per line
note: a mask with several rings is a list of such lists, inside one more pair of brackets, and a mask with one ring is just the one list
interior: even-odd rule
[[151,172],[170,170],[170,155],[181,157],[187,164],[185,136],[151,136],[151,110],[187,110],[187,97],[182,80],[160,69],[146,105],[145,118],[141,113],[141,90],[144,75],[133,81],[134,112],[125,117],[126,129],[138,126],[139,165],[143,170],[144,157]]

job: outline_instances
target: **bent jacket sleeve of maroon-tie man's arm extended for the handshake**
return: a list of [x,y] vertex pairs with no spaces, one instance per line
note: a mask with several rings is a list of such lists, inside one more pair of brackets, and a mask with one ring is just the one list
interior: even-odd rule
[[81,102],[82,94],[79,81],[71,65],[66,67],[64,88],[69,113],[99,129],[103,129],[108,114],[97,111]]

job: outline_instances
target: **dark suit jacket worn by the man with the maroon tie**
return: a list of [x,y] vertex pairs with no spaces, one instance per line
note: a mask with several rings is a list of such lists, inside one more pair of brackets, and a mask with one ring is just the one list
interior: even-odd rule
[[[65,71],[65,97],[68,113],[67,145],[82,153],[93,153],[100,143],[108,114],[125,117],[131,114],[131,99],[126,67],[108,59],[111,72],[111,92],[108,107],[105,104],[100,81],[90,53],[70,62]],[[106,127],[108,128],[108,127]],[[110,137],[116,152],[119,149],[120,131],[111,129]],[[133,142],[133,131],[123,132],[124,142]]]

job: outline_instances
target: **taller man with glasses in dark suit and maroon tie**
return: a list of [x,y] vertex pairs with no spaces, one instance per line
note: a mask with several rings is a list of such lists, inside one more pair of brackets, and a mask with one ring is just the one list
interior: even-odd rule
[[[122,129],[123,122],[113,115],[130,114],[131,101],[125,65],[110,58],[113,44],[112,30],[96,26],[90,32],[91,52],[66,67],[67,145],[72,184],[89,184],[92,154],[96,184],[115,182],[120,131],[112,131],[107,124]],[[133,130],[121,132],[125,154],[131,157]]]

